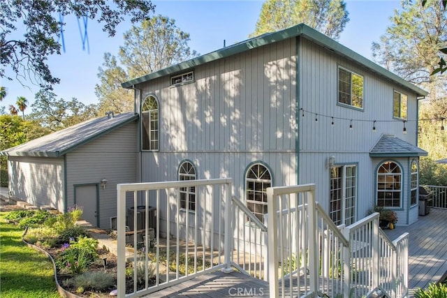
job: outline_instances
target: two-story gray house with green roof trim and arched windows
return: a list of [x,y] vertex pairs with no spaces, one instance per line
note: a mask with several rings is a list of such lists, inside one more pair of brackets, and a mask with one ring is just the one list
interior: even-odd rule
[[[427,92],[298,24],[124,82],[140,115],[137,180],[231,177],[261,220],[266,188],[314,183],[336,224],[374,205],[418,219]],[[196,211],[180,191],[180,216]],[[170,218],[175,223],[175,212]]]

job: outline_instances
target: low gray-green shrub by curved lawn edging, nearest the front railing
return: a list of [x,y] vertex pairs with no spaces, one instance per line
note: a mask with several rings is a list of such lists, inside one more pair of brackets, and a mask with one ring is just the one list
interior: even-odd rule
[[104,292],[115,288],[115,276],[105,272],[84,272],[78,276],[67,279],[63,285],[75,288],[76,292],[82,294],[86,291]]

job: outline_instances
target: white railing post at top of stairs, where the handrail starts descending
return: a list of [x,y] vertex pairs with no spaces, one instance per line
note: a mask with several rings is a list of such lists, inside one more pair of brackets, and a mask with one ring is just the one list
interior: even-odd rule
[[307,216],[309,216],[309,286],[310,290],[315,294],[318,292],[318,258],[316,251],[318,243],[316,241],[316,207],[315,207],[315,190],[307,193]]

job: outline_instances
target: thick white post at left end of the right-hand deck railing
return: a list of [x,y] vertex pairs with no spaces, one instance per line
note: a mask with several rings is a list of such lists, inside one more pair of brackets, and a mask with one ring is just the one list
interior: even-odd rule
[[273,188],[267,188],[268,211],[268,278],[270,297],[279,297],[278,283],[278,223],[277,200],[273,197]]

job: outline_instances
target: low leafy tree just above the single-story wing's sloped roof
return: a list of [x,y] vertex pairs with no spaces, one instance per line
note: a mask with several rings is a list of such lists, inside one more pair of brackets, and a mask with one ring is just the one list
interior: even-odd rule
[[49,131],[59,131],[98,116],[96,105],[85,105],[76,98],[57,99],[51,91],[39,91],[31,108],[29,119]]

